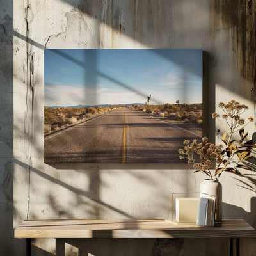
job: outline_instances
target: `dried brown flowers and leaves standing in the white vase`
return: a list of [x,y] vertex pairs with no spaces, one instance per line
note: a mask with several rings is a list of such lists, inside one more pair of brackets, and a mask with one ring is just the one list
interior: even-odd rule
[[[249,122],[253,122],[253,118],[249,117],[247,122],[241,118],[241,114],[249,109],[248,106],[235,100],[227,104],[220,102],[218,106],[223,111],[222,119],[216,112],[212,114],[212,118],[216,118],[225,129],[221,138],[223,144],[214,145],[204,137],[200,143],[196,139],[192,143],[185,140],[184,149],[179,149],[180,159],[188,159],[188,164],[199,169],[195,172],[203,172],[212,180],[219,179],[223,172],[241,175],[239,169],[252,170],[245,166],[243,161],[248,159],[253,151],[256,152],[256,146],[252,145],[252,140],[248,140],[248,131],[244,132],[244,127]],[[239,132],[239,141],[234,138],[236,132]],[[198,163],[195,163],[195,154],[199,157]],[[215,169],[214,175],[211,173],[211,168]]]

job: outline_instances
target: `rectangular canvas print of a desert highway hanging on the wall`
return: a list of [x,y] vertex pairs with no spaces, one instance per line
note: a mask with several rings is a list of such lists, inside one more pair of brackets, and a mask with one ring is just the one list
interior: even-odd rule
[[202,138],[202,51],[46,49],[45,163],[182,163]]

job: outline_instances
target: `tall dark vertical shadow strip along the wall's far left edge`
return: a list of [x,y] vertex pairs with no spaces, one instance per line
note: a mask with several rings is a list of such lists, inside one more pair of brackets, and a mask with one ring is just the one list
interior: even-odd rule
[[13,238],[13,3],[0,8],[0,255],[18,255]]

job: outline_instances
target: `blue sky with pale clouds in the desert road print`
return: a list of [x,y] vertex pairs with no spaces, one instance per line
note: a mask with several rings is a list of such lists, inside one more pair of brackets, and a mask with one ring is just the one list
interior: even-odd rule
[[202,51],[44,52],[45,106],[202,102]]

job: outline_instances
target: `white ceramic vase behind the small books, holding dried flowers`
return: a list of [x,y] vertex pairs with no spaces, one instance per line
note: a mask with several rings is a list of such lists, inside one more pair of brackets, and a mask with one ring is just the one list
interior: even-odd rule
[[222,186],[218,180],[204,179],[200,184],[200,193],[216,196],[215,222],[221,223],[222,220]]

